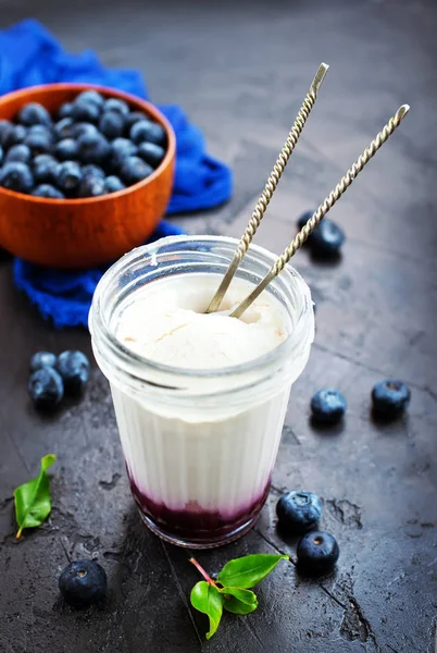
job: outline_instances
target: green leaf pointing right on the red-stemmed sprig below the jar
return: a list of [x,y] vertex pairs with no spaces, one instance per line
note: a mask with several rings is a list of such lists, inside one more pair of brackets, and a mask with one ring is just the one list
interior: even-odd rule
[[269,576],[280,559],[288,560],[288,555],[271,555],[258,553],[245,555],[229,560],[218,574],[217,581],[234,588],[253,588]]

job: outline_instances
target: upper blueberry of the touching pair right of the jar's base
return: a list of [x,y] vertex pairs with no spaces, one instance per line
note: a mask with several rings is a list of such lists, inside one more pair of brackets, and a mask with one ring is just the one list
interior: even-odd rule
[[319,522],[322,502],[312,492],[291,490],[277,502],[276,515],[280,526],[287,531],[305,533]]

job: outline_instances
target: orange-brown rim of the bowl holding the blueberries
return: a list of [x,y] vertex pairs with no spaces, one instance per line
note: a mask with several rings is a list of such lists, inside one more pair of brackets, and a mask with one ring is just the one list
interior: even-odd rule
[[[1,194],[4,194],[7,196],[9,195],[10,197],[14,197],[22,201],[29,201],[29,202],[42,204],[42,205],[50,202],[52,205],[59,205],[62,207],[65,207],[65,206],[78,207],[84,204],[95,204],[95,202],[97,204],[97,202],[113,201],[117,197],[127,195],[128,193],[134,193],[136,190],[139,190],[140,188],[143,188],[148,184],[152,183],[161,174],[162,170],[164,168],[166,168],[168,164],[171,164],[172,161],[175,159],[176,136],[175,136],[175,133],[173,131],[171,123],[165,118],[165,115],[163,113],[161,113],[161,111],[154,104],[149,102],[148,100],[138,98],[137,96],[126,93],[124,90],[111,88],[110,86],[101,86],[99,84],[86,84],[86,83],[80,84],[79,82],[77,82],[77,83],[68,82],[68,83],[59,83],[59,84],[38,84],[38,85],[34,85],[34,86],[27,86],[26,88],[21,88],[20,90],[12,90],[11,93],[8,93],[8,94],[1,96],[0,110],[3,106],[9,104],[11,98],[14,98],[14,99],[23,98],[23,100],[25,101],[25,99],[28,98],[28,96],[32,95],[36,90],[39,93],[43,93],[45,95],[48,95],[48,96],[50,96],[53,93],[53,90],[72,90],[72,91],[76,90],[77,93],[80,93],[83,90],[98,90],[104,96],[120,98],[122,100],[126,100],[126,102],[128,102],[132,106],[135,104],[137,109],[141,108],[145,111],[145,113],[147,113],[151,118],[153,118],[165,130],[165,134],[167,137],[167,146],[166,146],[165,157],[163,158],[161,163],[158,165],[158,168],[155,170],[153,170],[152,174],[150,174],[148,177],[146,177],[141,182],[137,182],[136,184],[133,184],[132,186],[127,186],[127,188],[123,188],[123,190],[116,190],[115,193],[108,193],[107,195],[100,195],[98,197],[77,197],[77,198],[62,198],[62,199],[52,198],[52,197],[37,197],[35,195],[26,195],[25,193],[17,193],[16,190],[11,190],[10,188],[4,188],[3,186],[0,186],[0,195]],[[10,119],[0,118],[0,120],[10,120]]]

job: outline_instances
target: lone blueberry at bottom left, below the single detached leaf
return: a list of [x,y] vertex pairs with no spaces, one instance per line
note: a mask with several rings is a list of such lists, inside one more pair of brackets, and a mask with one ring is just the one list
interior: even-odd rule
[[74,560],[62,571],[58,587],[66,603],[90,605],[104,599],[107,572],[96,560]]

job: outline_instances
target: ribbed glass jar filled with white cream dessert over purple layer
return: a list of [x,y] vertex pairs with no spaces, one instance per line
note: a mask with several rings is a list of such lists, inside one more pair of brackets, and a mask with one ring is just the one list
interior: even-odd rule
[[89,317],[141,516],[191,549],[226,544],[257,520],[314,336],[310,289],[289,266],[229,317],[275,261],[253,245],[220,311],[205,315],[236,245],[172,236],[134,249],[101,279]]

